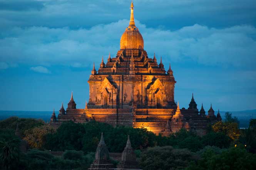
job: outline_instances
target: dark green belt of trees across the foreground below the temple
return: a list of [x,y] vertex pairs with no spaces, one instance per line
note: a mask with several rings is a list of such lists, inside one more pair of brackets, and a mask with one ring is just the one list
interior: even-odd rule
[[[18,150],[20,139],[14,135],[17,123],[22,139],[30,145],[27,153]],[[112,127],[95,121],[69,121],[54,129],[42,120],[11,117],[0,121],[0,162],[6,169],[86,169],[104,132],[109,152],[122,152],[130,135],[144,170],[255,169],[256,121],[251,120],[250,128],[245,130],[239,130],[238,124],[227,113],[225,121],[209,126],[203,137],[185,129],[165,137],[146,129]],[[65,153],[54,157],[50,151]]]

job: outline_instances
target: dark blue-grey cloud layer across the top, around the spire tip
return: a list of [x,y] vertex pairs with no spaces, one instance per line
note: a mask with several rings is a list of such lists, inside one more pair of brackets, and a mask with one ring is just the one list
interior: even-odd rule
[[[90,28],[129,18],[127,0],[44,0],[2,1],[0,28],[7,26],[46,26],[50,28]],[[137,0],[135,18],[147,26],[179,29],[187,25],[227,27],[240,24],[256,25],[256,2],[254,0]],[[7,10],[8,8],[12,10]],[[40,10],[31,10],[40,9]]]

